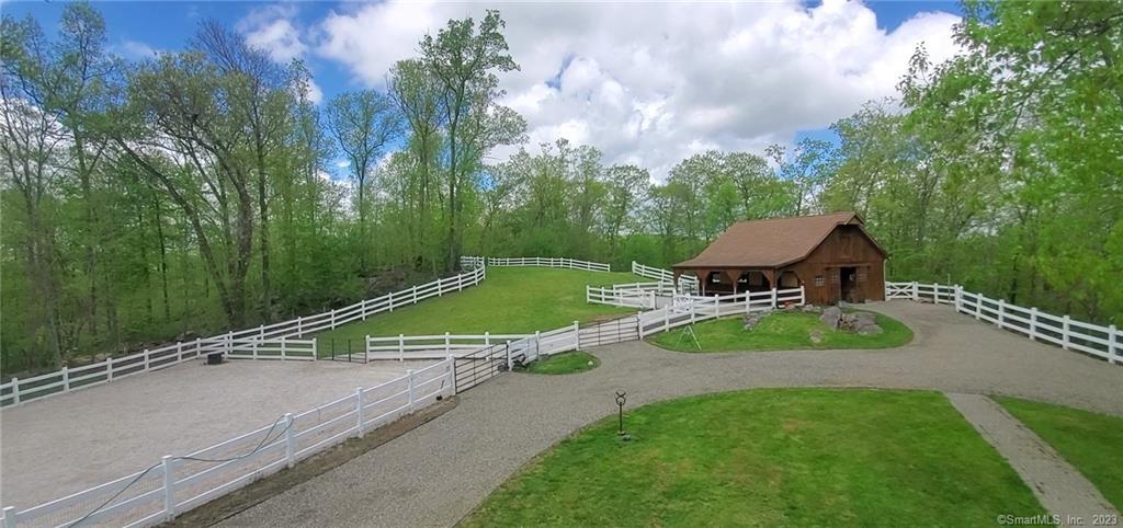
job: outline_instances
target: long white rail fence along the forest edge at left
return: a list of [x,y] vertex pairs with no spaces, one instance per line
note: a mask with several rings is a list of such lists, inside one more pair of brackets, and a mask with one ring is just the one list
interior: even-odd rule
[[212,353],[222,353],[230,359],[314,361],[317,355],[316,341],[298,337],[323,330],[334,330],[383,312],[393,312],[394,308],[430,297],[459,291],[480,284],[486,277],[487,272],[484,268],[476,268],[382,297],[360,300],[350,306],[322,314],[262,325],[256,328],[228,332],[186,343],[170,344],[120,358],[109,358],[73,369],[63,368],[34,378],[12,378],[7,383],[0,385],[0,405],[16,405],[35,398],[69,392],[77,388],[92,387],[127,376],[159,370]]

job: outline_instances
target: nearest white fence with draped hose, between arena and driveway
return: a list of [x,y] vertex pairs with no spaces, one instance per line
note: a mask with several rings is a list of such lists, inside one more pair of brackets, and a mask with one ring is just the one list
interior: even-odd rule
[[7,507],[0,526],[155,526],[454,393],[453,361],[441,361],[85,491]]

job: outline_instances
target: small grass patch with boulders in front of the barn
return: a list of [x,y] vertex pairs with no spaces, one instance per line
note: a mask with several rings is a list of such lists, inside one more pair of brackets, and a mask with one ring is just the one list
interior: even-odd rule
[[[682,352],[887,349],[912,341],[912,331],[897,319],[878,314],[877,324],[885,332],[877,335],[858,335],[831,330],[819,321],[818,314],[776,312],[761,319],[751,331],[742,327],[740,316],[697,323],[694,325],[697,344],[685,328],[659,333],[648,341],[664,349]],[[811,341],[813,330],[822,334],[822,342]]]

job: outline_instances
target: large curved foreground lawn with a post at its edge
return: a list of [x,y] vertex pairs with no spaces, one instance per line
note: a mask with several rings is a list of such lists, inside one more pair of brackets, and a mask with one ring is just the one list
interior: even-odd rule
[[466,526],[992,526],[1044,510],[937,392],[779,389],[631,410],[563,441]]

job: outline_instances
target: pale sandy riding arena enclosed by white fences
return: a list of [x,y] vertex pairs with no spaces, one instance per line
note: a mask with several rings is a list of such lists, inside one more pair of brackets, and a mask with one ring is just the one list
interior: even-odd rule
[[431,363],[195,361],[7,407],[0,494],[6,506],[57,499]]

